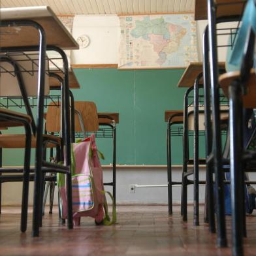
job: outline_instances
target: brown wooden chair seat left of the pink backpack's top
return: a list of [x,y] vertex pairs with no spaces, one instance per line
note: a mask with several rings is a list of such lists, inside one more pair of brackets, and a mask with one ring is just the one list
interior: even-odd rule
[[[43,140],[51,140],[56,142],[58,145],[61,143],[61,138],[54,135],[43,135]],[[56,144],[47,143],[47,148],[54,148]],[[5,134],[0,135],[0,148],[24,148],[25,147],[25,135],[12,135]],[[31,148],[36,147],[36,138],[32,136],[31,140]]]

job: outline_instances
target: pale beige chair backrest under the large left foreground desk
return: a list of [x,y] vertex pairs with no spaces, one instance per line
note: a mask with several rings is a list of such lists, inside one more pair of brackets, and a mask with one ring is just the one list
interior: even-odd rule
[[[27,95],[37,96],[39,54],[14,52],[8,53],[8,57],[14,59],[18,64]],[[48,71],[47,60],[46,71]],[[14,67],[11,63],[5,61],[0,62],[0,85],[0,96],[21,96],[20,86],[14,72]],[[48,95],[49,89],[49,76],[48,74],[45,74],[45,95]]]

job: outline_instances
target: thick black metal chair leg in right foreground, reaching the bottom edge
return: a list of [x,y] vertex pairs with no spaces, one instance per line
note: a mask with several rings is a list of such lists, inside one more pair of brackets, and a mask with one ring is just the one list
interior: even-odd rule
[[243,216],[242,204],[242,101],[240,84],[232,82],[229,87],[230,106],[230,155],[231,155],[231,206],[232,206],[232,255],[243,255]]

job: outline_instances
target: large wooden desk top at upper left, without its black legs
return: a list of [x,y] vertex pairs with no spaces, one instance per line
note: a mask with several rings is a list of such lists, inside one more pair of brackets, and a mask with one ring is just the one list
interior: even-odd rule
[[[78,43],[50,7],[0,8],[1,20],[33,20],[46,33],[46,43],[65,50],[78,49]],[[31,36],[35,33],[35,36]],[[1,47],[37,46],[39,33],[34,27],[0,27]]]

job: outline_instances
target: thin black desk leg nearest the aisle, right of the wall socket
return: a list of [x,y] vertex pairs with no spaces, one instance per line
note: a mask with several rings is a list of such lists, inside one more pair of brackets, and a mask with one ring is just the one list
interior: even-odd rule
[[172,215],[172,162],[170,148],[170,120],[167,123],[167,178],[168,178],[168,214]]

